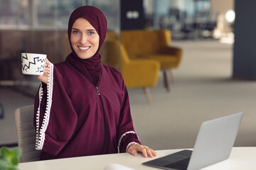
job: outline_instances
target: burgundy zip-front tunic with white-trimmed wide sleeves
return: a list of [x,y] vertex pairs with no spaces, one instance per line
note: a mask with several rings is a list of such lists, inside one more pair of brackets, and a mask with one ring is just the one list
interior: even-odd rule
[[65,62],[50,64],[48,85],[41,83],[34,118],[41,159],[126,152],[141,144],[120,72],[100,62],[88,71],[84,62],[72,52]]

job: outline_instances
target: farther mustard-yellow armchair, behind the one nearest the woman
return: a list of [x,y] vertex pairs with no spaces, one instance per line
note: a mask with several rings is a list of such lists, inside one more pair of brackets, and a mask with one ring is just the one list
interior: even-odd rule
[[164,84],[170,91],[167,71],[178,67],[181,62],[182,50],[171,46],[169,30],[122,30],[121,42],[129,57],[134,59],[157,60],[164,72]]

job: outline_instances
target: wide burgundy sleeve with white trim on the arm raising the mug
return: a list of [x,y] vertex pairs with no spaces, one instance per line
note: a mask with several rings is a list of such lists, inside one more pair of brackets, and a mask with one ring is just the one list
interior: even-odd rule
[[35,100],[36,149],[52,155],[67,144],[78,120],[61,77],[52,64],[48,86],[41,84]]

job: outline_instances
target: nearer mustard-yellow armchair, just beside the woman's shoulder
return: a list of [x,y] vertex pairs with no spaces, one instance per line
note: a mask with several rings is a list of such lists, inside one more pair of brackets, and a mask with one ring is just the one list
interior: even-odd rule
[[[146,99],[151,103],[149,86],[156,86],[159,78],[160,63],[156,60],[130,60],[124,46],[119,45],[117,40],[105,40],[102,45],[104,56],[115,59],[112,63],[117,63],[120,54],[120,72],[124,78],[127,88],[144,88]],[[103,55],[102,55],[103,56]]]

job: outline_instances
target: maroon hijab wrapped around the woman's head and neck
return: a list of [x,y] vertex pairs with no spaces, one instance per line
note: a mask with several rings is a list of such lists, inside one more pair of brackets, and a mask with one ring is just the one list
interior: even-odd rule
[[73,24],[78,18],[85,18],[89,23],[95,28],[98,35],[100,36],[99,48],[95,55],[88,59],[80,59],[78,55],[73,50],[73,47],[70,42],[70,47],[72,52],[66,58],[66,62],[70,62],[73,66],[79,70],[87,79],[97,86],[98,81],[100,80],[101,73],[101,56],[100,56],[100,47],[102,46],[106,33],[107,33],[107,19],[105,15],[100,11],[100,9],[95,8],[94,6],[81,6],[73,13],[71,13],[68,21],[68,39],[70,41],[71,30]]

